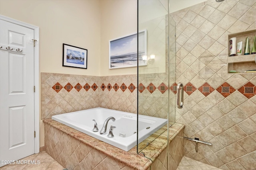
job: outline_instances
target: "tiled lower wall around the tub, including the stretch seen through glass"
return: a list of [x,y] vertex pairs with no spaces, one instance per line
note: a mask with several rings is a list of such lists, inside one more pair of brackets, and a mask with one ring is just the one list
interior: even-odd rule
[[[166,74],[145,75],[142,79],[141,114],[167,118]],[[42,72],[41,80],[41,119],[94,107],[137,113],[136,75],[99,77]]]

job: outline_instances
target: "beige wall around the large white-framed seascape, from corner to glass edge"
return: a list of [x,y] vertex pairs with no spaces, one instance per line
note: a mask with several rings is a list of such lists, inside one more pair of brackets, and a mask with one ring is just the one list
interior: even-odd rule
[[108,43],[137,32],[137,0],[102,0],[100,6],[100,76],[136,74],[136,67],[108,69]]

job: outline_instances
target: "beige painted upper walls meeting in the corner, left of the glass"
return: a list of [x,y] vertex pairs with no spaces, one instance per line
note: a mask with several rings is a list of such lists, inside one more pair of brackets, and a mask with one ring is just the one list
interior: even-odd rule
[[[39,27],[40,73],[136,74],[136,67],[108,69],[108,40],[136,32],[136,10],[136,0],[0,0],[0,15]],[[62,43],[88,49],[88,68],[63,67]]]

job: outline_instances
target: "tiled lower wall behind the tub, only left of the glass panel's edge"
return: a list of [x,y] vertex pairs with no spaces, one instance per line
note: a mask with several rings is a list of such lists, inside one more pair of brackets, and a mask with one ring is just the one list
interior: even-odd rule
[[41,73],[41,80],[41,119],[95,107],[136,113],[136,75]]

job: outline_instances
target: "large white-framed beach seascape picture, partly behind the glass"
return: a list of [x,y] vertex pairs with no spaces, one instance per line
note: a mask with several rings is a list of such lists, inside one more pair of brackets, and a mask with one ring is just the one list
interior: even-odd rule
[[[147,30],[140,31],[138,38],[138,63],[139,66],[146,66],[147,60],[142,60],[142,56],[147,55]],[[134,66],[137,66],[137,33],[110,40],[108,68]]]

